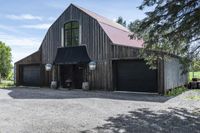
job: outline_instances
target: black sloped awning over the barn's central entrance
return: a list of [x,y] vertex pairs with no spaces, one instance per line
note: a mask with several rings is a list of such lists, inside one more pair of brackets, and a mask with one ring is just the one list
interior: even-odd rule
[[85,64],[89,63],[90,57],[88,56],[85,46],[63,47],[57,49],[55,64]]

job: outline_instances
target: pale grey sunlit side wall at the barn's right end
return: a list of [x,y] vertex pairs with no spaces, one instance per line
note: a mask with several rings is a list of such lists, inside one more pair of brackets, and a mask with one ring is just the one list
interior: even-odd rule
[[172,89],[184,85],[188,81],[188,75],[182,74],[182,65],[177,58],[164,61],[164,89]]

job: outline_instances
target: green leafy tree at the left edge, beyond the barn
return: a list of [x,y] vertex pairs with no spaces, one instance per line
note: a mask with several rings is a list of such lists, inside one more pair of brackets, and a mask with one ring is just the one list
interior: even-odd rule
[[0,82],[1,78],[6,78],[11,71],[11,48],[0,41]]

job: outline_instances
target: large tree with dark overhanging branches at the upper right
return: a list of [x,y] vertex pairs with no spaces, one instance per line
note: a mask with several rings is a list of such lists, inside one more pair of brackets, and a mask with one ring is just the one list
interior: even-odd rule
[[139,9],[147,7],[153,10],[129,25],[134,32],[131,37],[143,38],[145,51],[156,51],[143,52],[147,60],[173,54],[189,66],[188,61],[199,58],[200,0],[144,0]]

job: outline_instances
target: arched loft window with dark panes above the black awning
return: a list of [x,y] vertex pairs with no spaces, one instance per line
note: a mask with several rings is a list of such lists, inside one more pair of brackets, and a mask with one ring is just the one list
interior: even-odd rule
[[65,46],[79,45],[79,23],[71,21],[64,25],[64,42]]

